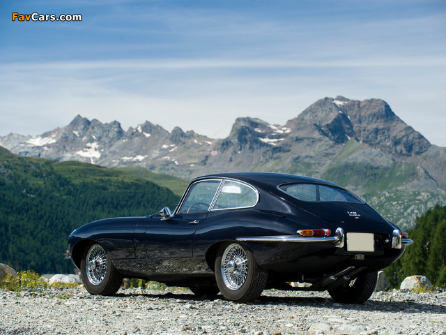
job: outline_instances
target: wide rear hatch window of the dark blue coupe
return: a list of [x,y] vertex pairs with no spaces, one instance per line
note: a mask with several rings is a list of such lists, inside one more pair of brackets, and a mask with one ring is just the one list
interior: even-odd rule
[[331,186],[318,184],[289,184],[281,185],[279,189],[288,193],[298,200],[312,202],[351,202],[353,204],[363,204],[364,202],[352,193]]

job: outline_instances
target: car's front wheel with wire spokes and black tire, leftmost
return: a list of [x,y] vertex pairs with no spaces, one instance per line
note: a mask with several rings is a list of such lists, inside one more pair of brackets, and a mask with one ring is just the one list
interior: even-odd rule
[[92,295],[114,295],[123,282],[123,276],[114,268],[100,244],[85,248],[82,253],[81,273],[85,288]]

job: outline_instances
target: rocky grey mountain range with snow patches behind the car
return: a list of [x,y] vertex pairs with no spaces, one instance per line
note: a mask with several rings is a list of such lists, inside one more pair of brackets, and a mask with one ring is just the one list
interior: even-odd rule
[[446,148],[380,99],[323,98],[285,125],[238,118],[224,139],[179,127],[169,132],[149,121],[124,131],[118,121],[78,115],[37,137],[0,137],[0,146],[22,156],[147,168],[183,179],[231,171],[318,177],[350,189],[405,229],[434,204],[446,204]]

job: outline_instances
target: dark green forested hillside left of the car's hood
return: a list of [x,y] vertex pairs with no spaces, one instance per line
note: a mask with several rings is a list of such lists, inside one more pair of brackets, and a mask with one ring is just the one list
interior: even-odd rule
[[75,228],[117,216],[144,216],[179,197],[132,174],[96,165],[28,158],[0,147],[0,262],[17,270],[67,273]]

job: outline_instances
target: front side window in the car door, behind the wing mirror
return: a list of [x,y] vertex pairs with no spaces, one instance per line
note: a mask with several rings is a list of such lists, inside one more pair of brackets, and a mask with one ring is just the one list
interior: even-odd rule
[[210,203],[218,190],[218,186],[220,186],[220,182],[221,180],[206,180],[193,184],[178,213],[190,214],[208,211]]

